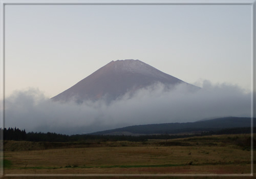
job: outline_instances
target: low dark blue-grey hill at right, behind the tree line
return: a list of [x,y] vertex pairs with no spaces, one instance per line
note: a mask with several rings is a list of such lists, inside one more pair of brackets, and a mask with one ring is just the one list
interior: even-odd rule
[[[256,125],[256,118],[253,118],[253,126]],[[187,123],[165,123],[147,124],[122,127],[112,130],[104,130],[91,133],[92,135],[125,135],[132,136],[153,135],[165,133],[186,133],[198,131],[211,131],[227,128],[251,127],[251,118],[225,117]]]

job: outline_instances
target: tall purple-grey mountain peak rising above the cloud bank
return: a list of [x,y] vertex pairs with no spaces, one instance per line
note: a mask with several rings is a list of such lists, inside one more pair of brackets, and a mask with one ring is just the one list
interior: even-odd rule
[[158,82],[166,86],[184,83],[191,89],[199,89],[140,60],[130,59],[111,61],[52,99],[64,102],[75,100],[78,103],[99,99],[112,101],[127,92],[132,94],[139,88]]

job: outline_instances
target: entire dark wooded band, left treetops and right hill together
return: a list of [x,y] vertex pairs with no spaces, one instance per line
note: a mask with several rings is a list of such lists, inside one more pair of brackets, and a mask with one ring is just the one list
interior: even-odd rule
[[[256,118],[253,119],[253,126]],[[150,124],[123,127],[87,135],[63,135],[58,133],[26,132],[18,128],[0,128],[3,139],[33,142],[78,142],[78,141],[146,141],[148,139],[176,139],[191,136],[238,134],[251,132],[250,118],[218,118],[190,123]],[[196,131],[196,132],[195,132]],[[253,128],[255,132],[255,127]],[[119,132],[119,133],[118,133]],[[190,132],[190,134],[189,134]],[[194,134],[191,134],[193,133]],[[138,134],[142,135],[138,135]],[[172,135],[176,133],[176,135]],[[135,136],[134,134],[137,134]],[[157,135],[156,135],[157,134]]]

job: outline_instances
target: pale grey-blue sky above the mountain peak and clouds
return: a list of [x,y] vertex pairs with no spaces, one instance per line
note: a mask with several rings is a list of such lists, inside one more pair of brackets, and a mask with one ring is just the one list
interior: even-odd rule
[[242,5],[7,5],[6,96],[53,97],[118,59],[250,90],[250,22]]

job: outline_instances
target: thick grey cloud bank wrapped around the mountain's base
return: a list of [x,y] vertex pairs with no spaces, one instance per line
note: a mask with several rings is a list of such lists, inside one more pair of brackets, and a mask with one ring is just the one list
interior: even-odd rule
[[237,85],[203,81],[190,92],[186,85],[167,91],[158,83],[106,104],[101,101],[54,102],[38,89],[6,98],[5,127],[63,134],[90,133],[140,124],[194,122],[212,117],[250,117],[251,94]]

